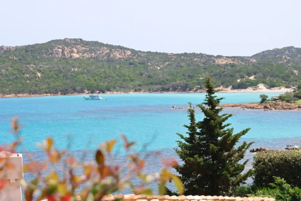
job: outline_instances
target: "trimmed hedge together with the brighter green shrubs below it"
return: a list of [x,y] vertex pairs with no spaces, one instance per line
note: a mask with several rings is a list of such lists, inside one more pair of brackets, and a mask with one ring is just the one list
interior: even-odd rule
[[231,196],[273,197],[280,201],[300,201],[299,150],[271,150],[257,152],[254,156],[253,184],[233,187]]

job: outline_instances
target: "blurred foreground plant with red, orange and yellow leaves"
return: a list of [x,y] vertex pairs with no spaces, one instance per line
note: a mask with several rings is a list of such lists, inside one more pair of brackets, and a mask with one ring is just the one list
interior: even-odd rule
[[[20,125],[18,118],[12,120],[12,132],[17,136],[17,140],[11,145],[0,147],[0,151],[5,153],[14,153],[16,146],[20,145],[22,138],[19,136]],[[37,146],[45,151],[48,159],[44,162],[32,160],[28,164],[24,164],[24,172],[31,172],[36,177],[33,181],[21,181],[20,185],[25,188],[26,201],[32,201],[34,193],[39,193],[36,200],[48,199],[48,201],[71,201],[94,200],[99,201],[104,196],[115,193],[130,187],[144,195],[153,195],[152,189],[145,185],[150,182],[159,183],[159,193],[166,193],[165,184],[167,181],[173,180],[180,194],[183,193],[183,184],[179,177],[172,174],[168,168],[177,165],[177,162],[171,159],[163,159],[163,168],[160,173],[144,174],[145,159],[141,158],[139,153],[132,149],[135,142],[128,142],[124,135],[121,135],[124,141],[129,163],[127,164],[125,174],[120,174],[120,166],[112,164],[112,150],[116,144],[116,140],[109,140],[102,143],[95,152],[95,162],[80,162],[69,152],[59,151],[54,148],[54,141],[48,137],[43,143],[37,143]],[[47,167],[50,167],[47,169]],[[10,168],[13,170],[9,162],[1,161],[0,175],[4,170]],[[43,174],[47,169],[47,174]],[[60,169],[63,176],[60,177],[58,171]],[[76,169],[82,169],[82,174],[76,174]],[[78,171],[77,171],[78,172]],[[141,184],[135,187],[130,181],[132,178],[141,180]],[[0,190],[5,186],[5,180],[0,177]],[[39,187],[42,186],[42,189]],[[1,192],[0,192],[1,193]]]

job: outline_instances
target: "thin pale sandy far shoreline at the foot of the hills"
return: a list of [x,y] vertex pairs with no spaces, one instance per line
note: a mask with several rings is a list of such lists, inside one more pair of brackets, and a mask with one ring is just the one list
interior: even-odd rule
[[[281,87],[275,87],[272,89],[268,89],[265,86],[259,84],[258,87],[249,87],[247,89],[239,89],[239,90],[231,90],[231,88],[223,88],[219,87],[217,88],[219,90],[218,93],[285,93],[289,91],[293,91],[293,88],[287,89],[287,88],[281,88]],[[110,95],[110,94],[138,94],[138,93],[205,93],[205,90],[197,90],[197,91],[158,91],[158,92],[107,92],[103,93],[104,95]],[[76,95],[89,95],[91,93],[73,93],[73,94],[9,94],[9,95],[2,95],[0,94],[0,98],[21,98],[21,97],[42,97],[42,96],[76,96]]]

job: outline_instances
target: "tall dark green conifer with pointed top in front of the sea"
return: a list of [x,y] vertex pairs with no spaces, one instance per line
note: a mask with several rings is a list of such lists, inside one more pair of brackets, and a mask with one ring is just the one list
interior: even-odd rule
[[226,128],[231,124],[225,123],[232,114],[219,114],[223,108],[218,108],[224,98],[217,98],[215,86],[208,76],[205,81],[207,93],[203,104],[197,105],[205,115],[203,121],[196,122],[195,111],[189,103],[188,117],[190,124],[184,125],[188,129],[188,136],[178,143],[176,153],[183,160],[176,171],[181,174],[185,184],[185,195],[222,195],[231,187],[244,184],[253,173],[249,170],[241,174],[248,160],[240,164],[247,149],[252,143],[243,142],[235,148],[240,137],[250,128],[233,134],[233,128]]

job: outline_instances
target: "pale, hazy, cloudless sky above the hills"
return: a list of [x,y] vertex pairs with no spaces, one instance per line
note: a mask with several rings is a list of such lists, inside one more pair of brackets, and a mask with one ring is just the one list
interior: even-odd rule
[[0,1],[0,46],[82,38],[224,56],[301,47],[300,0]]

